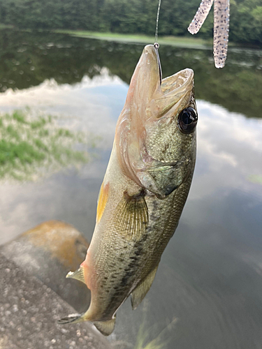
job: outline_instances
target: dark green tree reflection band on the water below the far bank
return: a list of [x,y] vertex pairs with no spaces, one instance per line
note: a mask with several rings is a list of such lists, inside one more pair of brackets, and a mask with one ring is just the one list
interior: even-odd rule
[[[108,68],[129,83],[142,45],[74,38],[58,34],[0,31],[0,91],[81,82]],[[163,77],[186,67],[196,73],[196,98],[248,117],[261,117],[262,51],[230,49],[227,65],[215,70],[212,51],[161,46]]]

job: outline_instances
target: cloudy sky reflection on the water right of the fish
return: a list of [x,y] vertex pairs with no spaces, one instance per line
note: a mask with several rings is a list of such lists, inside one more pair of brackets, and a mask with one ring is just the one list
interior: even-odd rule
[[[154,339],[156,322],[177,318],[170,349],[259,348],[262,186],[249,174],[262,170],[262,123],[203,101],[198,114],[194,180],[147,296],[147,328]],[[130,321],[139,331],[142,316],[133,312],[118,335]]]

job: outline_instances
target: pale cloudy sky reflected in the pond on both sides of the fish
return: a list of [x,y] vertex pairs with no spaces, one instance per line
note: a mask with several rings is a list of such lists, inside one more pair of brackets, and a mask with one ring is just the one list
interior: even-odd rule
[[[73,224],[90,241],[127,89],[104,70],[74,85],[45,80],[0,94],[0,112],[29,106],[59,115],[65,127],[101,136],[99,155],[79,172],[0,183],[0,243],[50,219]],[[197,107],[196,170],[180,225],[163,253],[149,305],[132,312],[126,302],[115,336],[132,341],[146,314],[152,339],[174,322],[167,348],[259,348],[262,185],[254,178],[262,177],[262,122],[201,100]]]

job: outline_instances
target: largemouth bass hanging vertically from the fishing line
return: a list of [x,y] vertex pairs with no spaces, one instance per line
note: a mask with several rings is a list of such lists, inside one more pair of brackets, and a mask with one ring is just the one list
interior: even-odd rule
[[87,285],[91,304],[60,324],[87,320],[108,336],[119,306],[143,301],[187,200],[197,121],[193,70],[162,80],[158,46],[146,45],[117,121],[92,241],[67,275]]

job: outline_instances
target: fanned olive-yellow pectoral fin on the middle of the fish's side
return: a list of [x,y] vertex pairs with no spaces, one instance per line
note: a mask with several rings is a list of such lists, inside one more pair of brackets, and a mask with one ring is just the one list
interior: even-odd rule
[[143,236],[148,225],[148,209],[143,191],[133,196],[124,193],[115,212],[113,221],[120,234],[130,240]]

